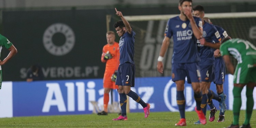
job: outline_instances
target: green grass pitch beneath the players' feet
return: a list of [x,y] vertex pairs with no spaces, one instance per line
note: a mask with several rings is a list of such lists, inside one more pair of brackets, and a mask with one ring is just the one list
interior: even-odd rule
[[[218,116],[218,112],[216,115]],[[256,110],[253,111],[251,126],[256,128]],[[207,111],[209,114],[209,111]],[[207,114],[207,118],[208,115]],[[240,125],[244,121],[245,111],[240,113]],[[128,113],[128,120],[113,121],[117,118],[116,113],[107,116],[96,114],[86,115],[61,115],[61,116],[33,116],[33,117],[13,117],[0,118],[1,128],[172,128],[175,123],[179,122],[179,112],[151,112],[148,118],[144,118],[144,113]],[[217,116],[214,122],[207,122],[206,125],[194,125],[198,120],[196,112],[186,112],[187,128],[223,128],[232,122],[232,111],[226,111],[225,122],[217,123]],[[120,127],[122,126],[122,127]]]

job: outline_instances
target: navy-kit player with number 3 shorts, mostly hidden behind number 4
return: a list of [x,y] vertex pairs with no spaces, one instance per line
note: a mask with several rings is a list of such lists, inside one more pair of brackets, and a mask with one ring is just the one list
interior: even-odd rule
[[[205,22],[212,24],[210,18],[208,18],[208,17],[203,17],[203,20]],[[217,28],[222,39],[229,37],[227,32],[222,27],[219,27],[216,25],[214,25],[214,26]],[[215,49],[214,57],[215,57],[215,60],[214,60],[215,78],[214,78],[213,82],[214,82],[214,84],[216,84],[217,94],[219,96],[226,96],[223,91],[223,83],[224,83],[224,79],[225,79],[226,68],[225,68],[225,63],[221,56],[221,53],[219,52],[219,49]],[[213,106],[212,100],[208,101],[208,104],[211,108],[211,106]],[[212,109],[210,112],[210,117],[214,117],[215,113],[216,113],[215,110]],[[225,111],[224,112],[220,111],[219,118],[218,118],[217,122],[224,122],[224,121],[225,121]]]

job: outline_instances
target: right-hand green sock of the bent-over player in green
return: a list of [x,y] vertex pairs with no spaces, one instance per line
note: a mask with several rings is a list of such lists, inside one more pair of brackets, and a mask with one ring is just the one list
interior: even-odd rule
[[245,113],[245,120],[244,120],[244,125],[250,124],[252,112],[253,112],[253,105],[254,105],[254,100],[253,100],[253,89],[248,88],[246,86],[246,113]]

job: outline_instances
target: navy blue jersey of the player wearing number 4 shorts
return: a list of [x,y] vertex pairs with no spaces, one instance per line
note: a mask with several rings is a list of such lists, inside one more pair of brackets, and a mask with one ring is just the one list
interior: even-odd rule
[[[221,40],[218,30],[211,24],[204,22],[203,24],[203,38],[210,43],[217,43]],[[197,46],[201,61],[200,66],[213,65],[214,62],[214,49],[208,46],[201,45],[197,40]]]

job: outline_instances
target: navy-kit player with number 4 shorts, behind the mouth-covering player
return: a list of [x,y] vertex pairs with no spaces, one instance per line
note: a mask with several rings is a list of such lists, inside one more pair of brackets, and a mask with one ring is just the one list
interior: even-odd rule
[[[204,8],[202,5],[196,5],[193,7],[193,15],[196,17],[199,17],[203,19],[204,17]],[[218,30],[211,24],[204,22],[202,20],[203,24],[203,38],[205,41],[209,43],[219,43],[221,41],[221,36],[219,35]],[[217,94],[215,94],[212,90],[210,90],[211,82],[214,80],[214,49],[208,46],[204,46],[200,44],[200,41],[197,41],[199,56],[201,61],[199,62],[200,66],[200,74],[201,74],[201,86],[202,88],[202,104],[201,108],[203,110],[204,115],[206,115],[206,105],[207,101],[210,101],[212,98],[219,101],[219,105],[221,106],[221,111],[226,110],[226,104],[225,104],[225,96],[221,97]],[[208,99],[209,98],[209,99]],[[210,106],[211,112],[217,111],[217,109],[212,106]],[[213,122],[215,119],[215,116],[210,116],[209,121]],[[195,122],[194,124],[200,124],[200,122]]]

